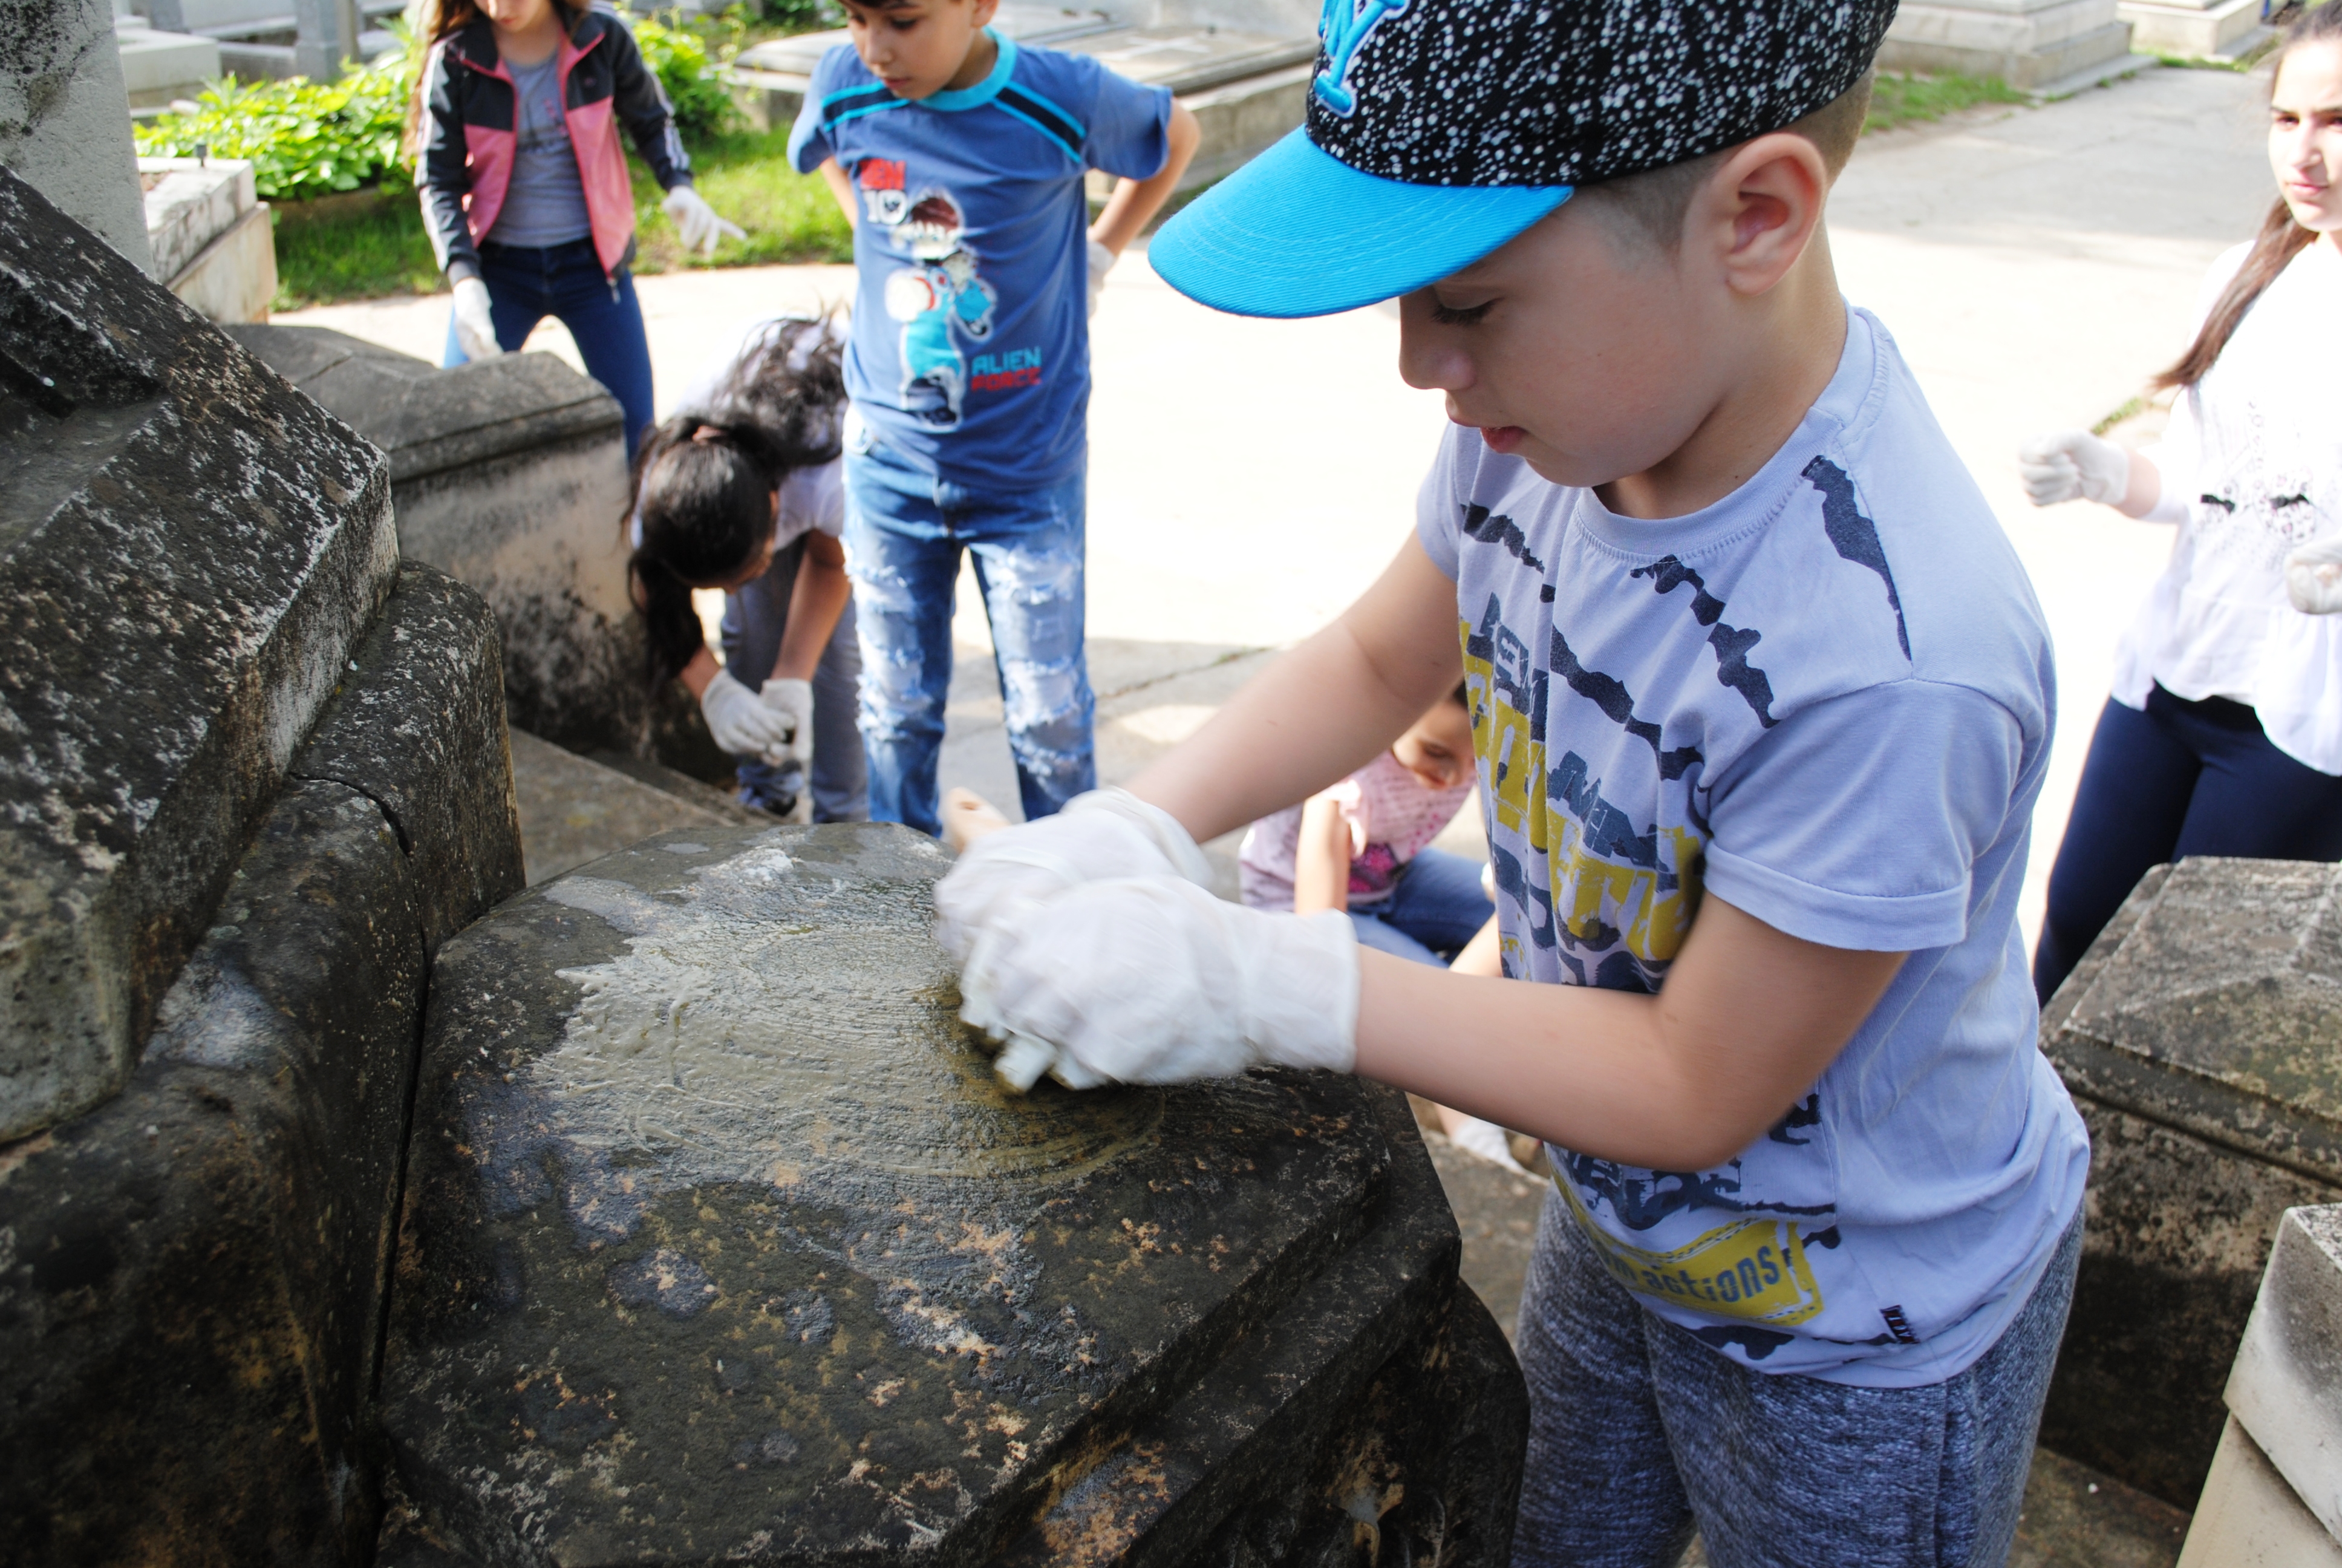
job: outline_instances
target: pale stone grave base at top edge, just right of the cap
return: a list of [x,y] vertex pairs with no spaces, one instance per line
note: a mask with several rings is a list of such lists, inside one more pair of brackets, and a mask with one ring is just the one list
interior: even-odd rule
[[2152,63],[2131,56],[2115,0],[1906,0],[1878,47],[1881,70],[2000,77],[2040,94]]

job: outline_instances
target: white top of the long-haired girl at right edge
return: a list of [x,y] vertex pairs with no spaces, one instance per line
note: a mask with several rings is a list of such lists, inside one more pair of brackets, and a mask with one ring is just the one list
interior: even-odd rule
[[[2204,277],[2197,321],[2244,265]],[[2286,555],[2342,527],[2342,251],[2309,244],[2253,302],[2220,359],[2171,408],[2148,457],[2187,513],[2171,565],[2115,652],[2117,703],[2148,689],[2227,696],[2269,741],[2342,773],[2342,616],[2286,600]]]

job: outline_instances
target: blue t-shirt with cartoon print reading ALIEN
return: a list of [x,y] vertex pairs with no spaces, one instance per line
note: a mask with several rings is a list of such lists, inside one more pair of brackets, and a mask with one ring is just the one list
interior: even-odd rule
[[991,38],[981,82],[918,101],[838,45],[813,70],[789,162],[838,159],[862,202],[845,391],[864,429],[956,485],[1023,492],[1068,478],[1087,441],[1082,176],[1157,173],[1171,94]]

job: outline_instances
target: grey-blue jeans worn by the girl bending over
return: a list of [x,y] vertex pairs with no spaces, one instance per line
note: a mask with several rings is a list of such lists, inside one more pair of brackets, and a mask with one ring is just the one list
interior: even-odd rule
[[[789,630],[789,595],[806,560],[806,541],[796,539],[773,553],[763,577],[724,595],[724,668],[749,691],[763,689],[780,659],[780,638]],[[862,764],[862,731],[855,708],[862,687],[862,645],[855,638],[855,602],[845,600],[838,628],[829,633],[822,661],[813,666],[813,820],[867,823],[869,769]],[[806,788],[806,771],[775,769],[749,757],[735,764],[740,799],[749,806],[787,813]]]

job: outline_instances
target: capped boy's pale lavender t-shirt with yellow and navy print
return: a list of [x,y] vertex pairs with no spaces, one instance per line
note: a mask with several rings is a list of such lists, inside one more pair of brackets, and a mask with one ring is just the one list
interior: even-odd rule
[[1508,975],[1658,989],[1703,893],[1911,954],[1726,1165],[1553,1151],[1597,1252],[1747,1366],[1960,1373],[2047,1268],[2089,1137],[2016,930],[2049,635],[1892,338],[1848,312],[1796,434],[1705,511],[1621,518],[1452,429],[1417,537],[1457,584]]

